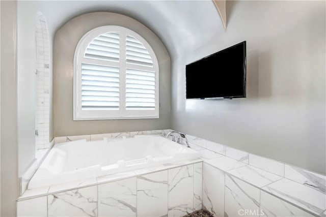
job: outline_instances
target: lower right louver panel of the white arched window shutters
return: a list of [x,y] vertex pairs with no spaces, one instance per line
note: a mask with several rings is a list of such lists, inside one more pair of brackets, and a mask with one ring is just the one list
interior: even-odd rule
[[155,72],[126,69],[126,110],[155,109]]

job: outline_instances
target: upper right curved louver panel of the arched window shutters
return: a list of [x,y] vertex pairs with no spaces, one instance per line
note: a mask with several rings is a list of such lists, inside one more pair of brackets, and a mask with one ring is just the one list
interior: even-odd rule
[[126,63],[153,67],[153,60],[145,46],[132,36],[126,36]]

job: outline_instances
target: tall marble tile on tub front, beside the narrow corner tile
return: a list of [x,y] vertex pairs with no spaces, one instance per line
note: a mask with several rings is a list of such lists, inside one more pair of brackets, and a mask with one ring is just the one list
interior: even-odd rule
[[169,169],[168,216],[193,212],[194,165]]

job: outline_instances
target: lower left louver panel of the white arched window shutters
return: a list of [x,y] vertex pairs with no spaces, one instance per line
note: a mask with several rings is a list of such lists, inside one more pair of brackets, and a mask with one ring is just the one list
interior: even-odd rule
[[82,110],[119,110],[119,68],[82,64]]

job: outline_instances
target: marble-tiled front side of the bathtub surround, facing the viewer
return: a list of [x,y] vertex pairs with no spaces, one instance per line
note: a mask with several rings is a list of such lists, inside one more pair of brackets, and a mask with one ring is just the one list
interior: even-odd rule
[[17,216],[183,216],[201,209],[202,160],[155,168],[28,190]]

